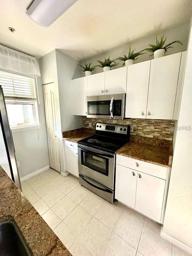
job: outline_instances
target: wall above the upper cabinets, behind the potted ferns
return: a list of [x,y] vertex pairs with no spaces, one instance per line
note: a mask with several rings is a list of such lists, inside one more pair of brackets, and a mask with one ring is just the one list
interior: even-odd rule
[[[188,36],[189,36],[189,24],[188,23],[184,23],[184,24],[182,24],[176,28],[173,28],[173,29],[168,29],[166,31],[162,31],[161,33],[157,33],[158,38],[161,38],[161,35],[163,35],[163,34],[165,37],[167,37],[167,41],[166,41],[167,44],[172,41],[175,41],[175,40],[180,40],[183,43],[183,45],[173,44],[173,49],[170,48],[165,55],[178,53],[178,52],[187,50],[187,41],[188,41]],[[121,40],[121,39],[119,39],[119,40]],[[155,44],[155,42],[156,42],[156,33],[154,32],[154,34],[150,34],[150,35],[146,35],[145,37],[138,38],[137,40],[130,42],[130,44],[131,44],[132,50],[136,49],[136,51],[140,51],[140,50],[143,50],[143,49],[149,47],[148,44]],[[93,56],[92,58],[87,59],[86,61],[93,62],[92,65],[98,65],[99,63],[97,62],[97,60],[104,60],[105,57],[107,58],[108,56],[110,56],[111,59],[116,59],[119,56],[123,56],[124,54],[128,55],[130,44],[128,42],[127,44],[123,44],[119,47],[116,47],[113,50],[110,50],[103,54],[99,54],[97,56]],[[145,54],[141,55],[139,57],[139,59],[134,61],[134,63],[143,62],[143,61],[153,59],[153,56],[150,56],[150,55],[151,55],[151,53],[146,52]],[[117,62],[119,62],[119,61],[117,61]],[[81,63],[82,63],[82,65],[85,64],[84,62],[81,62]],[[122,64],[123,64],[123,62],[119,62],[119,65],[117,65],[115,68],[120,68],[122,66]],[[92,72],[92,74],[99,73],[102,71],[103,71],[102,68],[96,67],[96,69]],[[84,76],[83,73],[82,73],[82,76]]]

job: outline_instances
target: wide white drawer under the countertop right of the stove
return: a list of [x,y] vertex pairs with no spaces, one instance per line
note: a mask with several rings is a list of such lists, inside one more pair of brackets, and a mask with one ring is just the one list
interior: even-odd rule
[[161,179],[166,180],[167,177],[167,167],[163,167],[160,165],[147,163],[123,155],[116,155],[116,163]]

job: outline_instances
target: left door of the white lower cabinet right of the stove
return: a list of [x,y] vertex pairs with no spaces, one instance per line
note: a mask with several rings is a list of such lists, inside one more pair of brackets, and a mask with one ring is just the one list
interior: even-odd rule
[[116,164],[115,198],[135,208],[137,171]]

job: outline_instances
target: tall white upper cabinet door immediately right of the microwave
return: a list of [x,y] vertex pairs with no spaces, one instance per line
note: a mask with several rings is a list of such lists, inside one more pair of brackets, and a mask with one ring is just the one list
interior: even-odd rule
[[151,61],[128,66],[125,117],[146,118]]

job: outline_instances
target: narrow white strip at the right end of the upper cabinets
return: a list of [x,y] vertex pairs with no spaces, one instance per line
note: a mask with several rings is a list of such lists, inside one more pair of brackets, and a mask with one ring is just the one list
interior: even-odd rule
[[181,65],[180,65],[180,69],[179,69],[179,79],[178,79],[178,84],[177,84],[175,108],[174,108],[174,114],[173,114],[173,120],[177,120],[177,118],[178,118],[179,103],[180,103],[180,98],[181,98],[181,89],[182,89],[182,83],[183,83],[183,74],[184,74],[186,57],[187,57],[187,51],[182,52]]

